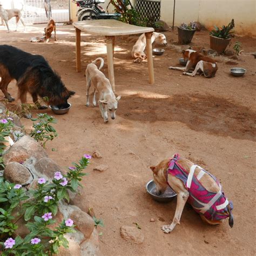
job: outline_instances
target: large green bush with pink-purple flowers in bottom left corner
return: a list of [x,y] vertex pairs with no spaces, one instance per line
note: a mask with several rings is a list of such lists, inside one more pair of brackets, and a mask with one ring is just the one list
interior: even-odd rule
[[[55,172],[52,181],[39,178],[37,189],[29,192],[20,184],[0,181],[0,251],[1,245],[4,248],[1,255],[52,255],[58,253],[59,246],[68,247],[64,234],[74,232],[73,220],[63,220],[55,230],[48,225],[55,223],[59,200],[69,201],[68,191],[77,192],[78,186],[82,186],[80,181],[86,175],[83,170],[89,159],[91,156],[85,154],[68,167],[66,174]],[[14,239],[12,235],[20,218],[29,221],[25,226],[30,234]]]

